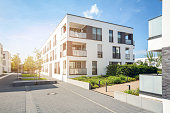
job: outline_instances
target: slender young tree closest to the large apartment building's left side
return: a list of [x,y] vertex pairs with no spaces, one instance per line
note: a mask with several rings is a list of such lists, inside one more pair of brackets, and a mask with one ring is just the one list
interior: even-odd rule
[[41,52],[38,49],[35,49],[34,53],[36,54],[35,67],[36,67],[36,70],[38,71],[38,75],[40,78],[43,59],[41,58]]

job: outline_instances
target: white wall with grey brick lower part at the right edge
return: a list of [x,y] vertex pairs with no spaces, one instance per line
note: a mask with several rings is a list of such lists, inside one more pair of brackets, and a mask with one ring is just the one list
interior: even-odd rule
[[170,1],[163,0],[162,2],[162,93],[164,99],[170,100]]

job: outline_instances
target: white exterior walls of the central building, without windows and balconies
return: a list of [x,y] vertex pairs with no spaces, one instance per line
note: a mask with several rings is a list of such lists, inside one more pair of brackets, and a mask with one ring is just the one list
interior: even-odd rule
[[[92,40],[92,39],[90,39],[91,38],[90,35],[88,36],[89,39],[69,37],[70,22],[82,24],[82,25],[86,25],[86,26],[102,28],[102,41]],[[64,34],[65,38],[63,38],[63,35],[61,35],[61,28],[65,24],[66,24],[66,32]],[[89,29],[90,29],[90,27],[89,27]],[[109,30],[113,30],[113,39],[114,39],[113,43],[109,42]],[[99,22],[99,21],[82,18],[82,17],[77,17],[77,16],[72,16],[72,15],[68,14],[61,21],[61,23],[57,26],[57,28],[54,30],[54,32],[51,34],[51,36],[48,38],[46,43],[41,48],[41,51],[43,51],[43,48],[48,44],[48,42],[50,40],[52,40],[52,42],[53,42],[53,37],[57,34],[57,45],[55,47],[53,47],[53,44],[51,44],[51,50],[49,50],[45,54],[42,54],[42,58],[45,59],[47,54],[48,54],[48,57],[50,57],[50,52],[57,49],[57,59],[53,60],[53,61],[49,61],[49,62],[44,62],[42,66],[43,67],[47,66],[49,68],[49,65],[52,64],[52,77],[57,78],[59,80],[67,81],[67,78],[72,78],[74,76],[80,76],[80,75],[70,75],[69,76],[69,61],[86,61],[86,68],[87,68],[88,76],[92,75],[92,61],[97,61],[97,75],[105,74],[106,66],[109,65],[109,61],[121,62],[122,64],[125,64],[126,62],[134,62],[134,59],[133,59],[134,46],[117,43],[118,42],[118,31],[133,34],[132,28],[109,24],[109,23],[104,23],[104,22]],[[60,57],[60,52],[62,50],[61,47],[63,47],[61,45],[63,45],[63,43],[72,44],[72,42],[85,43],[87,57],[70,56],[70,54],[72,54],[70,52],[72,50],[72,49],[70,49],[70,45],[66,45],[66,50],[67,50],[66,57]],[[102,44],[103,58],[97,58],[97,44]],[[112,58],[112,46],[120,47],[121,59],[113,59]],[[130,60],[125,59],[125,48],[129,48]],[[66,61],[66,74],[65,75],[63,74],[63,71],[64,71],[63,70],[63,61]],[[60,74],[54,74],[55,62],[60,62]],[[49,69],[48,69],[48,73],[42,72],[41,74],[49,76]]]

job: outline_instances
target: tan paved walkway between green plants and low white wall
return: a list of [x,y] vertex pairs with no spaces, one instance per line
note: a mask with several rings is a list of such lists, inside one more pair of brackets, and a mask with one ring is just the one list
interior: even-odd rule
[[130,85],[131,89],[136,90],[137,88],[139,88],[139,81],[133,81],[130,83],[125,83],[125,84],[115,84],[112,86],[107,86],[107,92],[106,92],[106,87],[96,88],[94,89],[94,91],[114,97],[114,91],[128,90],[129,87],[127,85]]

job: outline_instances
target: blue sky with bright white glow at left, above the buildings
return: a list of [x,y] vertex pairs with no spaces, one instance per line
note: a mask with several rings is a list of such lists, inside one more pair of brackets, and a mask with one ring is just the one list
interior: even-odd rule
[[22,61],[40,49],[67,14],[134,28],[136,58],[146,55],[148,20],[162,14],[160,0],[0,0],[0,43]]

